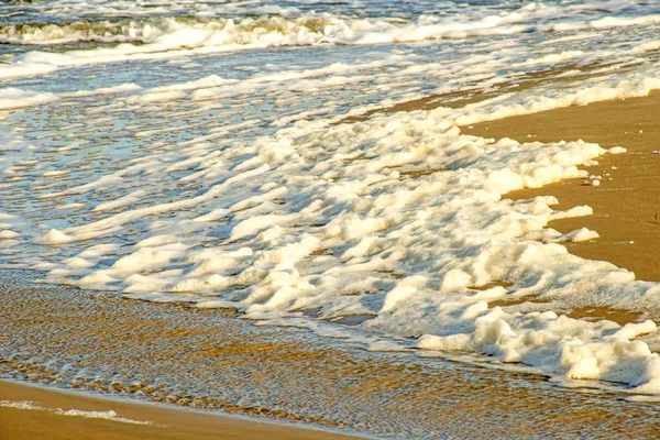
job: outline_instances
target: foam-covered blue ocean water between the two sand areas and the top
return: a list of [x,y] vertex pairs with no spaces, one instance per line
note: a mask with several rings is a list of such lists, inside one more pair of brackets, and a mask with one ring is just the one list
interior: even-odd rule
[[[624,150],[460,127],[660,88],[659,23],[641,0],[4,2],[0,262],[653,399],[660,286],[547,228],[591,208],[506,199]],[[590,306],[650,319],[558,312]]]

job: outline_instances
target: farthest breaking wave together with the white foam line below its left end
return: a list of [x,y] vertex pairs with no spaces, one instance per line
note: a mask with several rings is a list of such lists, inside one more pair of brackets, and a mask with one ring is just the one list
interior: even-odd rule
[[641,18],[600,15],[582,20],[562,14],[556,7],[528,4],[508,12],[479,10],[460,19],[419,15],[410,20],[359,19],[329,12],[297,18],[264,15],[235,19],[168,16],[76,21],[0,26],[0,43],[29,45],[98,42],[113,47],[78,47],[75,51],[29,51],[10,57],[0,67],[0,78],[50,74],[63,67],[123,61],[163,59],[195,54],[320,44],[372,45],[415,43],[429,40],[563,32],[660,22],[660,14]]

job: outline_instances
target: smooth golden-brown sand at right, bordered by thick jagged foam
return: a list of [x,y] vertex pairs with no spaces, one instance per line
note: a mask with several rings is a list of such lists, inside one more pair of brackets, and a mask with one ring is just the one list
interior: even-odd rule
[[[510,138],[518,142],[582,139],[603,147],[624,146],[625,154],[605,155],[586,168],[601,185],[569,179],[539,189],[508,194],[525,199],[556,196],[556,209],[588,205],[594,215],[549,223],[562,233],[586,227],[600,239],[569,243],[575,255],[604,260],[635,272],[638,279],[660,280],[654,258],[660,249],[660,92],[648,97],[595,102],[463,127],[465,134]],[[653,153],[656,151],[656,153]],[[616,169],[613,169],[616,167]],[[612,179],[609,179],[612,178]]]

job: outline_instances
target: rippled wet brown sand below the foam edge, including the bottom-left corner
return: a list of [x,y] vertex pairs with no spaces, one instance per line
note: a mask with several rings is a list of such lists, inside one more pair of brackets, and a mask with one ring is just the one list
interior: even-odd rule
[[[30,285],[37,275],[4,271],[0,278],[0,377],[376,437],[660,435],[653,422],[656,405],[625,402],[627,394],[594,389],[595,383],[562,387],[517,366],[494,369],[487,360],[486,367],[441,353],[424,352],[422,358],[415,351],[369,352],[359,343],[336,342],[305,328],[257,326],[231,310]],[[68,395],[36,396],[25,389],[36,393],[0,385],[0,400],[113,409],[119,417],[166,425],[173,436],[182,432],[178,438],[258,438],[260,430],[275,429],[241,420],[232,425],[237,430],[216,431],[223,419],[188,410],[161,413],[161,407],[110,406],[77,396],[67,400]],[[0,408],[0,426],[10,439],[66,438],[56,436],[74,429],[80,430],[76,439],[103,439],[107,431],[113,439],[168,438],[152,436],[160,432],[155,426],[45,410]],[[197,431],[188,436],[185,429]],[[118,430],[127,437],[117,437]],[[309,435],[282,432],[283,438]]]

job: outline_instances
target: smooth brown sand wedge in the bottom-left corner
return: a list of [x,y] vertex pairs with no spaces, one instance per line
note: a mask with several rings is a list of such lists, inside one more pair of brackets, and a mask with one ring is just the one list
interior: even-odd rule
[[[210,439],[326,439],[355,437],[246,420],[238,417],[165,408],[91,397],[0,381],[0,400],[31,402],[41,409],[19,409],[0,405],[0,439],[3,440],[210,440]],[[117,413],[118,418],[150,425],[81,416],[56,410]]]

